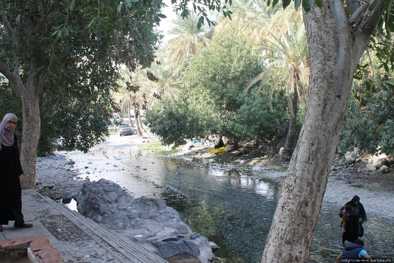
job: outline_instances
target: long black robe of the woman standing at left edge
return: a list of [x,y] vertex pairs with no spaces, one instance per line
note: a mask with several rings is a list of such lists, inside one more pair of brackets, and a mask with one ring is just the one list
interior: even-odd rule
[[22,188],[19,175],[22,175],[22,165],[19,159],[19,149],[16,135],[14,144],[2,144],[0,151],[0,224],[23,224]]

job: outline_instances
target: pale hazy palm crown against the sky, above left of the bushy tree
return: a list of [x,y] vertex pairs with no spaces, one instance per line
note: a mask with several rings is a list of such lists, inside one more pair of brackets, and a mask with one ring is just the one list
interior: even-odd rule
[[194,55],[200,47],[209,43],[212,29],[207,27],[197,28],[199,16],[191,12],[187,18],[178,16],[174,21],[175,26],[169,31],[176,35],[168,42],[167,55],[172,66],[179,66],[187,55]]

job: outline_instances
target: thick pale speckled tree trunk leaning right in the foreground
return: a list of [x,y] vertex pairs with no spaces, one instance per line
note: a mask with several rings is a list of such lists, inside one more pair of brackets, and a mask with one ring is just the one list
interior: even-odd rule
[[308,259],[352,76],[371,33],[351,33],[339,0],[324,1],[321,9],[313,4],[304,21],[310,61],[307,108],[267,237],[262,259],[267,263]]

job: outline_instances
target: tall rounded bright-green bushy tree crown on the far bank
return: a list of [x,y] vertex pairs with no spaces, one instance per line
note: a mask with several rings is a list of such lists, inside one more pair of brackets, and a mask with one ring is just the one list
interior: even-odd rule
[[227,124],[242,105],[238,97],[250,76],[261,71],[251,50],[251,45],[242,37],[227,31],[198,52],[186,69],[190,106],[200,112],[205,135],[232,135]]

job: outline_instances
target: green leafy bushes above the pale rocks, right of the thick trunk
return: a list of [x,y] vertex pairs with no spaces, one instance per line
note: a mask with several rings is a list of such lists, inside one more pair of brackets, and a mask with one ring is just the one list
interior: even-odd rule
[[348,151],[357,146],[363,151],[394,155],[394,100],[391,91],[373,93],[365,106],[351,98],[338,147]]

